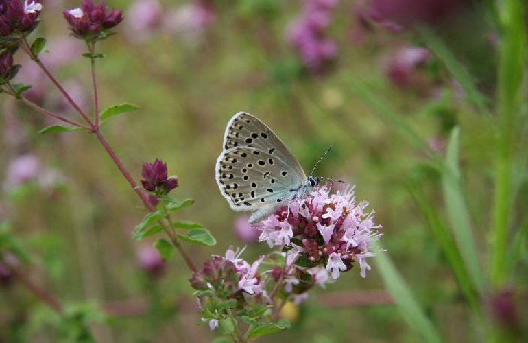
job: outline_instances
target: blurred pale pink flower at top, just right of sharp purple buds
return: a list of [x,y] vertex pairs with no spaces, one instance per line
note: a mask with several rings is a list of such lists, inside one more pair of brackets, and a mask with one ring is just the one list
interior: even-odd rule
[[136,0],[127,12],[125,34],[129,40],[141,42],[160,27],[162,20],[163,10],[158,0]]

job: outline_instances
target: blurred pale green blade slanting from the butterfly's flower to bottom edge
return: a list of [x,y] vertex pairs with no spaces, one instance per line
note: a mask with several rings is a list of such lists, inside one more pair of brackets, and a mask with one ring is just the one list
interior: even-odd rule
[[381,251],[379,244],[375,244],[374,250],[379,251],[374,257],[376,269],[379,270],[385,287],[392,295],[407,324],[424,338],[424,342],[442,342],[440,335],[438,335],[429,318],[425,316],[420,305],[416,303],[411,289],[403,281],[387,252]]

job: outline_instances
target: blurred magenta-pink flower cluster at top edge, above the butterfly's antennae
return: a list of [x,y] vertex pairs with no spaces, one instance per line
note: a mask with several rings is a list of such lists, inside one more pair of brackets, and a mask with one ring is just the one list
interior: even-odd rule
[[337,0],[308,0],[302,16],[289,27],[289,42],[311,71],[323,71],[325,64],[337,54],[335,43],[324,34],[335,5]]

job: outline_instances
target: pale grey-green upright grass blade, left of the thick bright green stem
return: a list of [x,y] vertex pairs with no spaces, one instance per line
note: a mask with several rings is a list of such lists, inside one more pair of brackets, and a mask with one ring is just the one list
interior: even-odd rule
[[460,141],[460,128],[456,126],[451,131],[446,149],[446,163],[442,174],[444,202],[451,223],[451,231],[455,236],[458,250],[464,259],[466,268],[475,287],[484,292],[484,278],[482,268],[479,266],[475,238],[470,225],[470,216],[461,185],[461,174],[458,165],[458,149]]

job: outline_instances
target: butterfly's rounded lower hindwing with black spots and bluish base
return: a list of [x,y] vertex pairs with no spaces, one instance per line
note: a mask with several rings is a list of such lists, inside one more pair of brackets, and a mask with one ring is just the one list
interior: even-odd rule
[[277,206],[304,185],[290,165],[256,147],[231,147],[217,161],[217,182],[232,209]]

